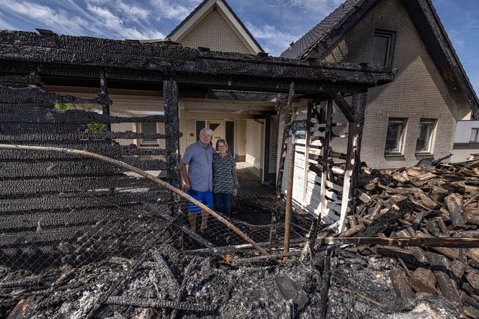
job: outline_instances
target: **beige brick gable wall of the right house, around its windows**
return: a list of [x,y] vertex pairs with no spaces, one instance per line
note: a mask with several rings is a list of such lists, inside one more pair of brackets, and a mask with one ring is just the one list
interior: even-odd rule
[[[434,157],[449,154],[459,107],[465,109],[467,105],[458,105],[451,96],[401,1],[378,1],[323,60],[371,63],[375,29],[397,32],[393,67],[399,71],[393,83],[369,90],[362,161],[378,168],[415,164],[421,158],[415,154],[420,119],[436,119]],[[389,117],[408,119],[404,156],[384,156]],[[340,149],[341,143],[346,143],[346,139],[334,141],[333,148]]]

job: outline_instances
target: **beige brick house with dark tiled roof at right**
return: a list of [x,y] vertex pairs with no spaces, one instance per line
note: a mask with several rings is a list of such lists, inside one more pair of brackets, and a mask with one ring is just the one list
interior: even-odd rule
[[[344,1],[281,56],[398,68],[393,83],[369,91],[362,161],[371,167],[447,156],[456,123],[479,116],[476,93],[429,0]],[[346,146],[340,137],[331,143],[338,152]]]

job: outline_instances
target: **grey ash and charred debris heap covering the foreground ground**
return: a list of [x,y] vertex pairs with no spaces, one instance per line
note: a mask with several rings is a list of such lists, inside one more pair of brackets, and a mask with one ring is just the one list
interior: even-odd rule
[[[92,313],[92,318],[172,318],[175,308],[173,318],[323,318],[323,309],[326,318],[459,318],[449,302],[431,294],[418,295],[418,306],[401,312],[389,279],[394,262],[347,250],[333,251],[324,303],[327,258],[322,253],[312,263],[295,257],[277,265],[236,267],[234,258],[226,264],[162,245],[112,294],[133,260],[111,258],[79,269],[57,269],[50,288],[3,287],[1,293],[14,299],[10,306],[1,304],[2,316],[11,315],[17,305],[22,316],[12,318],[88,318]],[[128,305],[118,305],[121,300]]]

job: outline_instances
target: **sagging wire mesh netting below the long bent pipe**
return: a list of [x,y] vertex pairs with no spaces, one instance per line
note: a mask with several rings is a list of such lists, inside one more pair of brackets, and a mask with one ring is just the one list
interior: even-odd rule
[[[78,267],[110,256],[133,258],[150,243],[168,243],[179,250],[246,243],[208,214],[195,214],[195,233],[188,219],[188,201],[145,178],[121,173],[115,178],[128,179],[129,187],[82,190],[75,179],[75,185],[70,185],[73,190],[63,192],[68,180],[58,175],[45,178],[43,185],[37,179],[30,183],[0,178],[0,263],[35,274],[48,267]],[[23,211],[22,207],[35,208]],[[204,220],[206,229],[202,229]],[[257,243],[273,239],[279,244],[284,234],[282,222],[253,225],[228,220]],[[274,238],[270,238],[272,228]]]

